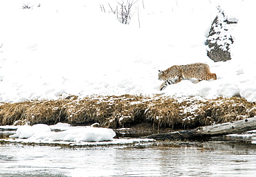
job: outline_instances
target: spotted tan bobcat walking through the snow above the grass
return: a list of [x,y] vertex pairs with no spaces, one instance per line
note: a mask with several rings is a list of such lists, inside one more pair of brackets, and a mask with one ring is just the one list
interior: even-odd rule
[[165,71],[158,73],[158,80],[165,80],[160,86],[160,91],[163,91],[168,84],[176,84],[181,80],[196,80],[194,84],[201,80],[217,80],[215,73],[210,73],[210,68],[207,64],[196,63],[187,65],[174,65],[167,68]]

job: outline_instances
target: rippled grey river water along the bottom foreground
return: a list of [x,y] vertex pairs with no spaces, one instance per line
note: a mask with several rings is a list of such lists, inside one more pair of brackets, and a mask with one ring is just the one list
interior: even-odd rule
[[244,141],[52,147],[2,143],[0,176],[255,176]]

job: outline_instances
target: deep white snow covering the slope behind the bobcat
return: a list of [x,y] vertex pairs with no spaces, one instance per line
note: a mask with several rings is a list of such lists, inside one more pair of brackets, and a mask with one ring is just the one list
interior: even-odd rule
[[[109,5],[118,4],[1,1],[0,102],[155,93],[256,101],[255,1],[139,0],[129,25],[120,24]],[[217,6],[238,23],[230,30],[232,60],[214,63],[205,40]],[[158,69],[194,62],[208,64],[217,80],[158,91]]]

